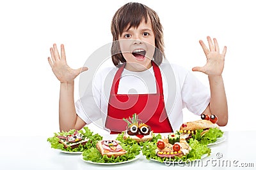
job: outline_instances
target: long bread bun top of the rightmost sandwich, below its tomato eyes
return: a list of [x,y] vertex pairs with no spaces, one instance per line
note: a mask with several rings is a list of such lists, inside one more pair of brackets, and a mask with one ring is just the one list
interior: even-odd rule
[[196,120],[194,122],[187,122],[180,126],[182,131],[195,131],[199,129],[209,129],[209,128],[220,128],[219,125],[213,124],[209,120]]

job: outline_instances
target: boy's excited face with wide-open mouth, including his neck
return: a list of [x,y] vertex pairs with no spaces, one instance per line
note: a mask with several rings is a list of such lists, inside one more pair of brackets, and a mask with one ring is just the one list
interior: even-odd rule
[[152,66],[155,52],[155,35],[150,18],[137,27],[125,30],[119,36],[121,52],[126,60],[125,68],[130,71],[145,71]]

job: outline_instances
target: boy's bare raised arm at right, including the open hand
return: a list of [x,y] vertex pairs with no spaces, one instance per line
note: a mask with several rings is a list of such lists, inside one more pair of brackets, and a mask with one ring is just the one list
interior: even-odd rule
[[193,67],[192,70],[201,71],[208,75],[211,90],[211,101],[203,114],[216,115],[218,117],[217,124],[224,126],[227,125],[228,122],[228,106],[221,74],[223,72],[227,47],[224,46],[223,52],[220,53],[218,42],[215,38],[213,39],[214,43],[212,43],[209,36],[207,37],[207,41],[209,43],[209,49],[205,46],[202,40],[199,41],[207,58],[207,63],[204,67]]

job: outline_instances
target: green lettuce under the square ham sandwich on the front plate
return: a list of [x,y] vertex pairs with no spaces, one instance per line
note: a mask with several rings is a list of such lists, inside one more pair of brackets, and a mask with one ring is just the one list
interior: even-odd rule
[[136,155],[140,154],[140,146],[137,143],[131,145],[125,145],[124,143],[119,144],[127,151],[124,155],[118,157],[107,157],[107,155],[102,156],[97,148],[92,147],[88,150],[84,150],[83,159],[99,163],[116,163],[134,159]]

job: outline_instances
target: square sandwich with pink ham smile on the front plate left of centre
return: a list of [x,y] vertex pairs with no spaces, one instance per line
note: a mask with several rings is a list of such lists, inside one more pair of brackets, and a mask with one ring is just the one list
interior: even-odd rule
[[118,157],[127,153],[115,140],[98,141],[96,148],[102,156],[107,155],[107,157]]

